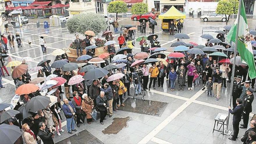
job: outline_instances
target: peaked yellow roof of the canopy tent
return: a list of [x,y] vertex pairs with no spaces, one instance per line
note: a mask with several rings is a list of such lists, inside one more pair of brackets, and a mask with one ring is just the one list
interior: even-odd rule
[[186,12],[181,12],[172,6],[167,12],[158,16],[159,19],[185,19]]

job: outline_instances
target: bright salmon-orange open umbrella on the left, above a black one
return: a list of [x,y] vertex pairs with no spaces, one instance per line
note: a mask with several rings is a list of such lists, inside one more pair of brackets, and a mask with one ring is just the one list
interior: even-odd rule
[[39,89],[38,86],[32,84],[32,83],[27,83],[19,86],[15,92],[17,95],[24,95],[24,94],[29,94],[36,92]]

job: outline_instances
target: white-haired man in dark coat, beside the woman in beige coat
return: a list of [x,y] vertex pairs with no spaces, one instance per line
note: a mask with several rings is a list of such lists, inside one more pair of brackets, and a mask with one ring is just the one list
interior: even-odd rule
[[106,115],[107,115],[107,109],[109,108],[107,106],[107,98],[105,96],[104,91],[100,91],[100,95],[96,99],[97,106],[99,108],[99,113],[100,113],[100,124],[104,125],[103,120],[106,120]]

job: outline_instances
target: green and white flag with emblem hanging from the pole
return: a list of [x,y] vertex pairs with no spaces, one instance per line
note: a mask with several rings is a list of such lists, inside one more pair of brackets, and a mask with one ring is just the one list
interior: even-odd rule
[[[242,60],[245,61],[249,66],[248,73],[250,78],[253,79],[256,77],[256,67],[254,63],[253,49],[252,49],[252,44],[250,40],[250,34],[249,34],[243,1],[241,2],[241,8],[239,10],[241,10],[241,14],[240,14],[240,20],[239,20],[240,22],[239,22],[239,30],[238,30],[237,50]],[[230,41],[236,42],[237,24],[238,24],[238,16],[227,35],[227,40],[229,42]]]

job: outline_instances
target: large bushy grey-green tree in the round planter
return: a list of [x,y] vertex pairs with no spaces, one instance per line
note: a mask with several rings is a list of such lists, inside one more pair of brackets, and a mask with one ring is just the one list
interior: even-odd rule
[[68,19],[66,26],[68,31],[72,34],[84,34],[87,30],[99,33],[104,31],[107,27],[105,18],[96,13],[74,15],[72,18]]

